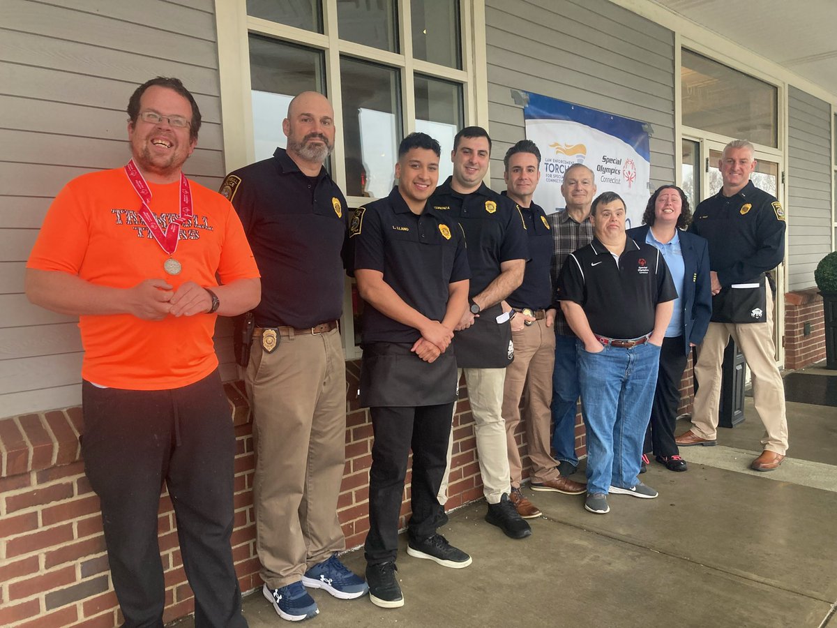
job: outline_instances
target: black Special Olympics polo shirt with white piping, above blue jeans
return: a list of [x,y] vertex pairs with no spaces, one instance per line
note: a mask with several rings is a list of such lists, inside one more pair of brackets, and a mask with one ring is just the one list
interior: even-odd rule
[[677,291],[654,246],[627,238],[617,265],[607,247],[593,238],[567,257],[557,298],[582,306],[593,333],[630,340],[654,330],[657,304],[674,301]]

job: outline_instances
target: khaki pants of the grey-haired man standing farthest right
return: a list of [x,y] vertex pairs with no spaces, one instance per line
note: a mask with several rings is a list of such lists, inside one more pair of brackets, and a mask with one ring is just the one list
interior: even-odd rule
[[769,289],[767,292],[767,322],[709,323],[695,365],[698,390],[691,414],[691,430],[701,438],[716,439],[721,404],[721,366],[724,349],[732,336],[752,374],[753,401],[765,429],[763,448],[784,456],[788,450],[788,419],[785,416],[782,375],[774,358],[773,294]]

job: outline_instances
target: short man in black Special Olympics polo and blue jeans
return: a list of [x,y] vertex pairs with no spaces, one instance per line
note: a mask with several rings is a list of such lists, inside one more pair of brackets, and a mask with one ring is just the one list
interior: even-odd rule
[[625,205],[605,192],[590,210],[593,242],[572,253],[557,299],[578,337],[587,411],[587,500],[609,512],[608,492],[653,499],[638,479],[665,328],[677,297],[659,250],[625,235]]

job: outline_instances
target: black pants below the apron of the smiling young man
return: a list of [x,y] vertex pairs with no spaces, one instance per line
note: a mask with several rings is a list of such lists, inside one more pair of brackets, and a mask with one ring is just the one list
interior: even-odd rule
[[436,497],[447,466],[450,417],[454,404],[418,408],[370,408],[375,442],[369,470],[368,564],[394,562],[398,553],[398,517],[413,449],[410,500],[413,515],[407,524],[410,538],[433,536],[447,521]]

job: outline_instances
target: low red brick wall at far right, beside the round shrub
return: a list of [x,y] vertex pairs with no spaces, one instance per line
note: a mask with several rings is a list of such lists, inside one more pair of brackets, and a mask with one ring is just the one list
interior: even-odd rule
[[784,347],[788,369],[804,368],[825,359],[823,297],[816,288],[785,293]]

